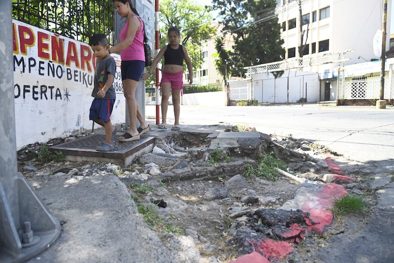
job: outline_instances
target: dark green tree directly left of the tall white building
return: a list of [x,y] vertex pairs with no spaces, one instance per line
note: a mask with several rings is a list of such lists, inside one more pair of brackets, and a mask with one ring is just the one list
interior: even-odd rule
[[225,34],[233,34],[231,74],[245,76],[244,67],[284,58],[275,0],[212,0]]

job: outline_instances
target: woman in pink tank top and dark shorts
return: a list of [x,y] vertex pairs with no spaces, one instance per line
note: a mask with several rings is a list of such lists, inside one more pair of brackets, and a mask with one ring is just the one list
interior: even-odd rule
[[[130,127],[120,138],[120,142],[139,140],[140,135],[149,130],[136,99],[138,82],[145,68],[143,42],[146,40],[144,23],[130,0],[114,0],[118,14],[126,18],[120,33],[120,43],[110,48],[110,53],[120,51],[123,94],[126,98]],[[137,119],[140,127],[137,128]]]

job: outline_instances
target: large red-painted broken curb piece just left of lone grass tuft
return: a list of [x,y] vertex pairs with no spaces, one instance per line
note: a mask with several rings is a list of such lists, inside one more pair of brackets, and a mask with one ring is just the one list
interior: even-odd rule
[[342,185],[325,184],[315,198],[302,205],[301,210],[308,212],[309,218],[315,223],[308,228],[309,231],[323,233],[324,228],[331,225],[333,213],[328,208],[333,206],[334,199],[341,199],[345,194],[346,190]]

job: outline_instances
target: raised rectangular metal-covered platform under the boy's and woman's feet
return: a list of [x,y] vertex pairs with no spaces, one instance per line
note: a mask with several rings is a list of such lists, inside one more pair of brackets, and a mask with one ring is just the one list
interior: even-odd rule
[[105,135],[94,134],[73,141],[64,142],[50,147],[52,152],[60,151],[68,161],[97,161],[111,162],[120,166],[128,166],[133,163],[138,155],[153,149],[155,137],[141,137],[140,140],[131,142],[113,143],[112,151],[97,151],[95,148],[105,140]]

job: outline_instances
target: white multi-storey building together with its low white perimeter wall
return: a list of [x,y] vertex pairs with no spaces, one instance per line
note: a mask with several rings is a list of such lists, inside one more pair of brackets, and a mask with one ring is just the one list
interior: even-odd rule
[[[278,0],[275,13],[286,59],[247,67],[247,85],[238,87],[230,82],[230,99],[232,93],[247,93],[237,99],[261,103],[379,99],[376,64],[381,62],[375,62],[374,67],[365,66],[365,62],[380,60],[382,38],[375,36],[383,30],[383,10],[383,0]],[[390,10],[391,0],[387,0],[386,32],[390,32]],[[305,49],[300,56],[302,34]],[[390,34],[386,33],[385,51],[389,47]],[[392,99],[394,93],[391,63],[387,61],[385,67],[385,99]],[[360,70],[354,64],[359,64]],[[350,65],[355,66],[351,75],[346,70]],[[369,75],[365,68],[370,69]],[[284,74],[275,79],[270,74],[274,71]],[[232,84],[244,92],[232,91]]]

